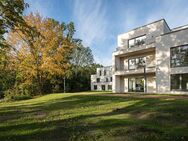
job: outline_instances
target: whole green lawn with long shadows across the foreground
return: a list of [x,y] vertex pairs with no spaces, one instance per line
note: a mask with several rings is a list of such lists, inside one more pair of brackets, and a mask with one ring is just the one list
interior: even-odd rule
[[0,103],[0,141],[188,141],[188,97],[103,92]]

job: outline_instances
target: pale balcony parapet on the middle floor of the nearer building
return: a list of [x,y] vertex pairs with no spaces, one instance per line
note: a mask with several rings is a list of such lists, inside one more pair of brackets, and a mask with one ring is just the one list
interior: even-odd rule
[[[146,74],[150,74],[150,73],[155,73],[156,72],[156,67],[152,66],[152,67],[146,67]],[[115,75],[139,75],[139,74],[144,74],[144,68],[139,68],[139,69],[124,69],[124,68],[116,68]]]

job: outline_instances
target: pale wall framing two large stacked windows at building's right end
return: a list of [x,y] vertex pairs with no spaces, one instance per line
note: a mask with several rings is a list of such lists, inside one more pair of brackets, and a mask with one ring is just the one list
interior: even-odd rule
[[157,38],[157,93],[174,93],[170,90],[170,74],[188,73],[188,67],[170,68],[170,48],[185,44],[188,44],[188,29],[172,32]]

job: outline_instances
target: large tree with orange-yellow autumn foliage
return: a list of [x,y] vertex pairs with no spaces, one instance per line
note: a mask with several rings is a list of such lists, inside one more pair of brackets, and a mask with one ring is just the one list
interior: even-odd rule
[[42,94],[47,80],[65,75],[70,67],[70,54],[75,47],[72,39],[74,25],[60,24],[54,19],[32,13],[24,19],[29,26],[36,27],[40,36],[20,30],[8,34],[8,43],[12,46],[11,62],[16,68],[16,85],[36,87]]

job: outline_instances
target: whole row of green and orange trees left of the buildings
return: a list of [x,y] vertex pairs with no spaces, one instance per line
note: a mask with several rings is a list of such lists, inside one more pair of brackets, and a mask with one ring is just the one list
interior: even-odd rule
[[23,0],[0,1],[0,97],[89,90],[90,75],[100,65],[74,38],[73,22],[23,16],[27,7]]

